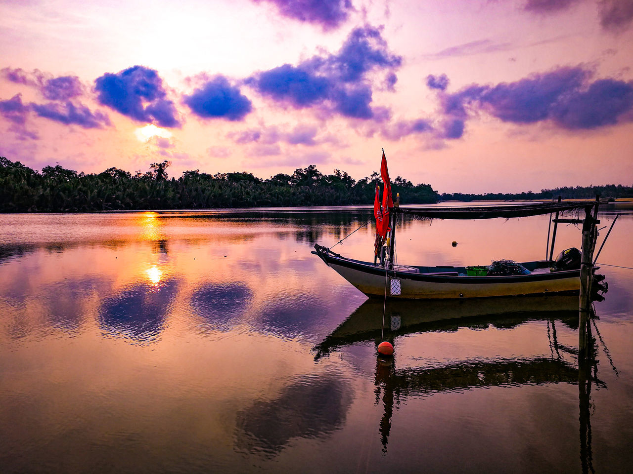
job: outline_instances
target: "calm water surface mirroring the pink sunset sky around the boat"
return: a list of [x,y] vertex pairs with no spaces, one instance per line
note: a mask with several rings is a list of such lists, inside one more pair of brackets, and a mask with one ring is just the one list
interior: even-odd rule
[[[0,472],[631,471],[633,270],[601,269],[589,384],[573,297],[387,302],[384,363],[382,300],[310,254],[370,212],[0,216]],[[544,258],[547,233],[404,222],[398,263]],[[623,211],[599,262],[633,267],[632,234]]]

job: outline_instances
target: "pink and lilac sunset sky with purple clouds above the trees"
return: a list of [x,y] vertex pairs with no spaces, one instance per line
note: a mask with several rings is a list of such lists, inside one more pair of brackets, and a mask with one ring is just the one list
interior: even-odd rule
[[633,184],[633,0],[0,0],[0,155]]

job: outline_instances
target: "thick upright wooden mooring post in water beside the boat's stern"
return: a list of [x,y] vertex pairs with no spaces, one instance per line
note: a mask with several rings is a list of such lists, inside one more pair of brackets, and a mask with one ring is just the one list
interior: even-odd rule
[[587,321],[591,307],[591,267],[593,262],[592,236],[595,219],[591,216],[591,208],[585,208],[582,221],[582,256],[580,257],[580,301],[578,322],[578,356],[587,355]]

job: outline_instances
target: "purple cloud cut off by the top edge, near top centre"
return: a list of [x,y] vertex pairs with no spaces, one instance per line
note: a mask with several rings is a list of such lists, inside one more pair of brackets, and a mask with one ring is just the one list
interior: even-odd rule
[[254,0],[267,1],[277,6],[280,15],[304,23],[320,25],[323,30],[339,27],[353,11],[349,0]]

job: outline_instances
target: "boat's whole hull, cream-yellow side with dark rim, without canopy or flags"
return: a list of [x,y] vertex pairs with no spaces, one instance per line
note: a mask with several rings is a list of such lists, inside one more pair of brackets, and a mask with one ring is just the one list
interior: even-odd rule
[[[332,269],[367,296],[403,299],[489,298],[579,291],[579,270],[518,276],[447,276],[385,270],[365,262],[317,253]],[[398,279],[400,294],[392,295]]]

